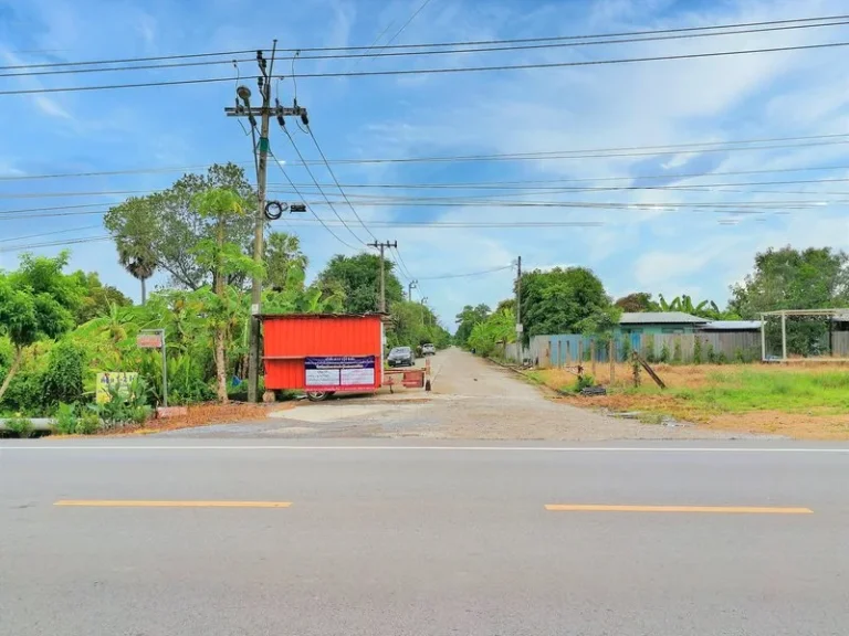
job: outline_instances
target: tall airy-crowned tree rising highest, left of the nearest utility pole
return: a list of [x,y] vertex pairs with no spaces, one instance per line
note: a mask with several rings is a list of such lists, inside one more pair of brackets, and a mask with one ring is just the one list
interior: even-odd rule
[[[185,174],[163,192],[128,199],[109,210],[104,224],[128,264],[140,259],[139,276],[153,263],[170,274],[174,285],[199,289],[212,283],[212,271],[198,261],[197,246],[201,241],[214,240],[219,227],[213,219],[197,213],[195,199],[216,189],[234,192],[248,206],[256,200],[244,169],[234,163],[214,165],[207,174]],[[230,216],[223,226],[228,243],[245,254],[251,251],[252,214]],[[126,250],[122,252],[122,247]],[[247,278],[244,272],[237,272],[228,276],[227,283],[242,286]]]

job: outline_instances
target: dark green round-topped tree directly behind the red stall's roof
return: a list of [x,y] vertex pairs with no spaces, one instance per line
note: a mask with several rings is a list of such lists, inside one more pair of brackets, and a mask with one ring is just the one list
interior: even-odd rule
[[[392,272],[394,264],[386,262],[386,306],[403,300],[403,286]],[[376,254],[356,256],[336,255],[318,274],[318,283],[327,288],[338,286],[345,293],[345,311],[368,314],[380,305],[380,257]]]

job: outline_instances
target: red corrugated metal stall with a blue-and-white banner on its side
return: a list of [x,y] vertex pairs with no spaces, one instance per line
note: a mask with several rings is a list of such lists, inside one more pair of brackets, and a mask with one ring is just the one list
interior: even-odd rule
[[265,389],[375,391],[382,382],[381,314],[262,316]]

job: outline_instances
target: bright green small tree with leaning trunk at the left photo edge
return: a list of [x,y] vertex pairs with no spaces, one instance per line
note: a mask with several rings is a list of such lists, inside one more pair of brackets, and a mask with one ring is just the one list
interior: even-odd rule
[[21,365],[24,349],[42,338],[59,338],[74,326],[80,289],[62,273],[67,256],[66,252],[55,258],[24,254],[18,271],[0,275],[0,333],[14,348],[0,384],[0,401]]

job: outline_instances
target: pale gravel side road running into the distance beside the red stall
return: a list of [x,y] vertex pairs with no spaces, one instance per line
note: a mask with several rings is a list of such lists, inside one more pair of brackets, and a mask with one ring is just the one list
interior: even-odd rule
[[547,398],[516,373],[460,349],[431,359],[433,391],[303,402],[255,424],[174,431],[176,437],[443,439],[721,439],[740,435],[607,417]]

